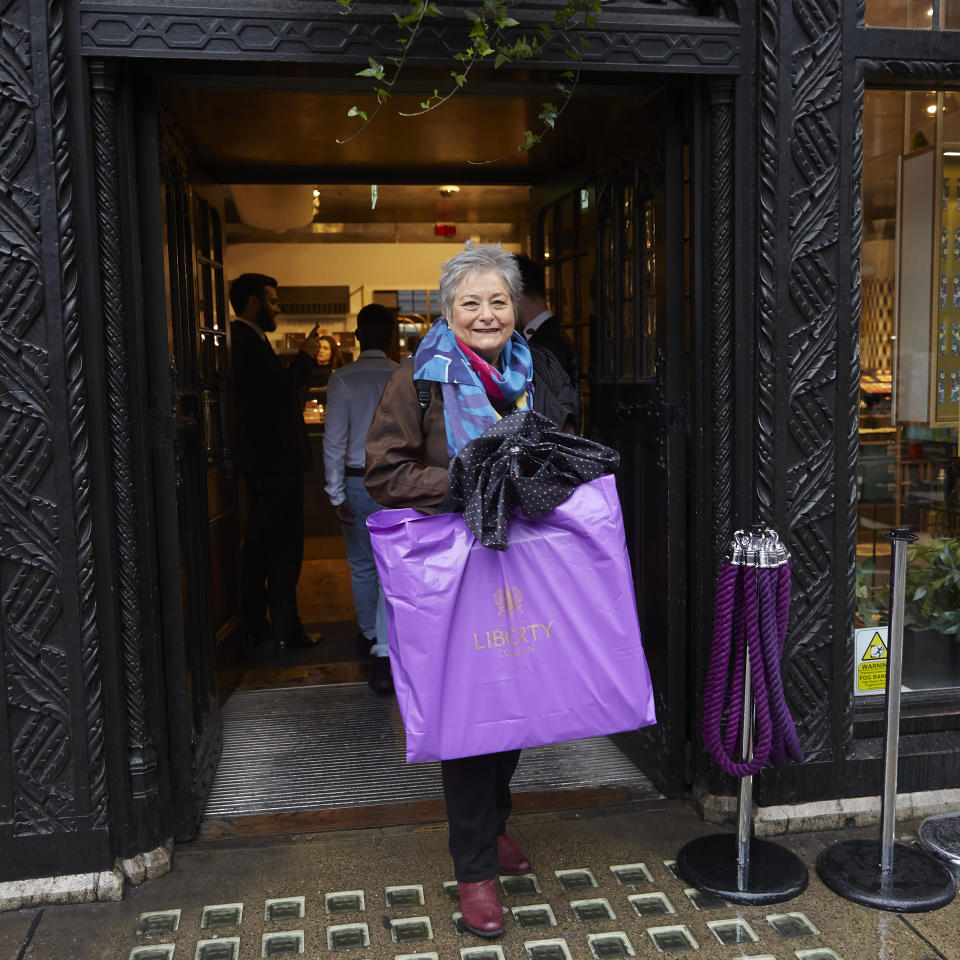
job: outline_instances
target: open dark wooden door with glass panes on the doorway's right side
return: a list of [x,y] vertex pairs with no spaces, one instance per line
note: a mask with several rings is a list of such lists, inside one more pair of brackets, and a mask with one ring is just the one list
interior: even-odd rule
[[552,264],[553,302],[563,304],[571,334],[581,334],[585,432],[621,456],[618,488],[658,724],[616,739],[667,794],[684,792],[691,759],[685,392],[691,197],[683,118],[682,98],[662,93],[601,145],[598,157],[618,159],[601,159],[584,172],[577,188],[541,211],[538,231],[540,256]]

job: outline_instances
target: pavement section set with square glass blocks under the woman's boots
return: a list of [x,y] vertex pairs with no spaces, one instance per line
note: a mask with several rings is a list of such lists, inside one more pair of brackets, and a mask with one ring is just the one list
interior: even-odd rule
[[[365,960],[617,960],[687,954],[740,960],[844,960],[802,912],[744,908],[714,897],[690,896],[672,861],[645,864],[582,864],[568,870],[502,877],[505,934],[484,942],[461,922],[453,881],[367,890],[291,890],[262,903],[212,904],[199,911],[242,917],[213,931],[180,919],[187,905],[141,914],[131,930],[127,960],[247,960],[306,956]],[[565,884],[586,874],[590,896]],[[648,879],[649,878],[649,879]],[[582,877],[580,879],[583,879]],[[528,880],[527,885],[515,881]],[[630,882],[634,881],[634,882]],[[580,888],[581,890],[583,888]],[[402,904],[390,907],[393,896]],[[686,894],[686,895],[685,895]],[[421,900],[422,897],[422,900]],[[331,915],[330,905],[346,909]],[[659,905],[649,914],[642,904]],[[286,906],[269,919],[271,906]],[[299,908],[304,912],[300,916]],[[294,910],[294,907],[297,910]],[[415,911],[415,913],[411,912]],[[194,909],[192,914],[196,914]],[[441,942],[438,942],[441,941]],[[455,944],[451,949],[450,944]],[[174,952],[175,951],[175,952]]]

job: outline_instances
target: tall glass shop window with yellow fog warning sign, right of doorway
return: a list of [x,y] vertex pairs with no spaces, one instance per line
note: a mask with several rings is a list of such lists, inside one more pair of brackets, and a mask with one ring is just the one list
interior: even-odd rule
[[869,696],[883,692],[892,525],[919,535],[904,687],[960,687],[960,93],[869,90],[863,119],[854,689]]

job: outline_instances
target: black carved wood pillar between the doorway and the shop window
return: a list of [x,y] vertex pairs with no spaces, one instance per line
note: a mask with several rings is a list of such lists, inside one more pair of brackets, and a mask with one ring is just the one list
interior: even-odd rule
[[[785,38],[792,49],[783,49]],[[827,760],[836,699],[849,687],[834,675],[832,653],[835,591],[844,589],[836,559],[847,556],[840,541],[851,536],[849,438],[838,438],[836,416],[850,403],[848,390],[838,390],[836,359],[838,337],[850,334],[840,331],[837,279],[841,244],[849,243],[840,233],[840,130],[849,120],[840,115],[839,0],[765,0],[760,40],[756,507],[793,555],[785,688],[807,759]],[[782,103],[788,68],[791,99]],[[846,291],[844,298],[846,323]]]

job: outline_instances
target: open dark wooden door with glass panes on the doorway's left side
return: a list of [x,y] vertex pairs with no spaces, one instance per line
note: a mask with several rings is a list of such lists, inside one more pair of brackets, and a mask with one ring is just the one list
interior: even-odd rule
[[[175,122],[139,118],[145,295],[157,430],[157,530],[177,839],[196,835],[220,756],[241,630],[221,218],[191,183]],[[153,234],[153,231],[156,231]],[[161,412],[163,411],[163,412]]]

